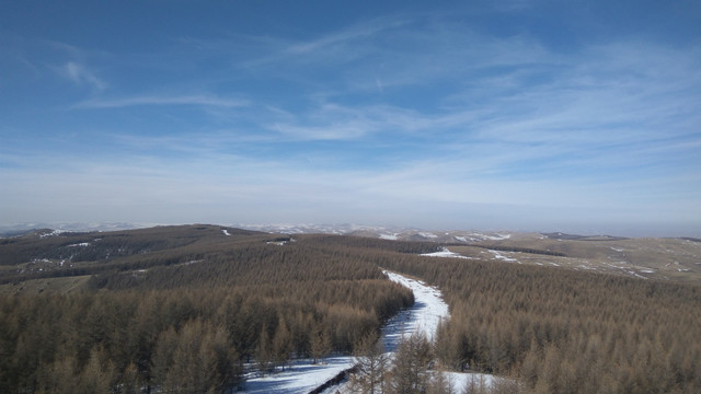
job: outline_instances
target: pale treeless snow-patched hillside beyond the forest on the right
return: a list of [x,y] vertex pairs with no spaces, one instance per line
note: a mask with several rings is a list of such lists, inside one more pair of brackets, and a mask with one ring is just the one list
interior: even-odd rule
[[623,237],[475,230],[428,231],[350,224],[268,225],[262,229],[286,233],[320,231],[381,240],[430,242],[478,260],[701,282],[701,240],[693,237]]

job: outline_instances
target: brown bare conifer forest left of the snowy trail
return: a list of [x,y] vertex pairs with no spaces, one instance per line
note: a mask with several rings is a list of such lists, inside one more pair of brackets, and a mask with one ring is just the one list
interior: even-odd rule
[[368,255],[313,237],[169,251],[119,259],[91,291],[0,297],[0,392],[225,392],[249,362],[352,354],[413,303]]

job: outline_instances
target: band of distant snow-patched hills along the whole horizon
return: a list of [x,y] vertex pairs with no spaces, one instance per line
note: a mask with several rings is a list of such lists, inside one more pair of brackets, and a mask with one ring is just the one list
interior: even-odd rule
[[[576,235],[561,232],[528,233],[475,230],[421,230],[359,224],[233,224],[231,227],[192,224],[140,229],[136,223],[42,223],[2,228],[5,239],[0,244],[30,242],[14,254],[0,255],[2,260],[15,263],[44,262],[36,269],[55,269],[61,260],[94,260],[126,257],[134,253],[153,252],[186,239],[198,239],[202,233],[183,235],[176,230],[209,229],[215,239],[237,233],[235,229],[260,232],[265,241],[281,243],[291,235],[333,234],[390,241],[412,241],[443,247],[440,256],[461,256],[476,260],[501,260],[517,264],[552,266],[574,270],[617,273],[620,275],[665,280],[701,281],[701,242],[699,239],[625,239],[611,235]],[[127,230],[122,230],[127,229]],[[137,230],[138,229],[138,230]],[[189,230],[187,230],[189,231]],[[139,240],[125,248],[120,240],[111,244],[110,232],[129,232]],[[102,233],[102,234],[96,234]],[[137,236],[137,234],[140,234]],[[149,234],[145,237],[145,234]],[[24,235],[24,236],[22,236]],[[9,239],[13,236],[15,239]],[[194,237],[193,237],[194,236]],[[296,237],[296,236],[295,236]],[[26,240],[22,240],[26,239]],[[56,245],[33,244],[46,240]],[[70,239],[70,240],[69,240]],[[95,242],[95,240],[101,240]],[[148,239],[148,240],[147,240]],[[220,241],[220,240],[219,240]],[[219,242],[217,241],[217,242]],[[357,242],[358,240],[340,241]],[[51,248],[51,247],[54,248]],[[80,246],[80,247],[78,247]],[[41,252],[41,253],[39,253]],[[435,252],[435,251],[433,251]],[[125,255],[126,254],[126,255]],[[24,258],[20,258],[24,256]],[[20,260],[18,260],[20,258]],[[195,259],[195,258],[192,258]],[[7,262],[5,262],[7,263]]]

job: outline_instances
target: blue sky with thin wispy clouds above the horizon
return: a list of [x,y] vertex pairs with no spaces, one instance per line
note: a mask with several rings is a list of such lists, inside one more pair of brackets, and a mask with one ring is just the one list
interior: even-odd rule
[[0,0],[0,224],[701,236],[701,2]]

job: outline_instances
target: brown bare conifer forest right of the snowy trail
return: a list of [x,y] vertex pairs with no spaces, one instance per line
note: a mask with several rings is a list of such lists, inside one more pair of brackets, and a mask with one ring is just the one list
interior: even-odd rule
[[533,393],[701,392],[701,288],[456,259],[388,259],[438,286],[451,318],[436,354]]

